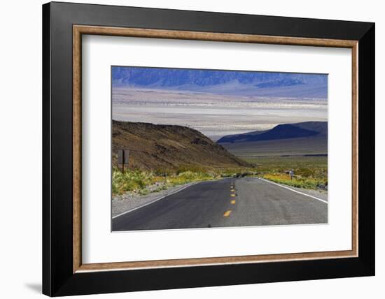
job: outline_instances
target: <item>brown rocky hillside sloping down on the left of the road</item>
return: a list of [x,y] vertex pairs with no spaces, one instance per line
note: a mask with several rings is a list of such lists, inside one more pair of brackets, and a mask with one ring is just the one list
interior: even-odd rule
[[117,150],[130,150],[130,168],[207,170],[250,166],[199,131],[186,126],[113,120],[113,165]]

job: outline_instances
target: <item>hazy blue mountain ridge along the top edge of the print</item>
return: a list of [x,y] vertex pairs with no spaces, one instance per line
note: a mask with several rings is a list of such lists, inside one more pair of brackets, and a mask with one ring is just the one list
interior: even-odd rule
[[244,96],[317,99],[326,99],[328,96],[328,77],[323,74],[114,66],[112,82],[114,87],[176,89]]

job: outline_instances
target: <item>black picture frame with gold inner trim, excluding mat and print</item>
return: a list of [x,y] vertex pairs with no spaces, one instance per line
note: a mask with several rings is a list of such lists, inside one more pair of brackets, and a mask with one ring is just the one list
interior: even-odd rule
[[[350,48],[352,249],[82,263],[83,34]],[[374,275],[374,24],[74,3],[43,6],[43,293],[67,296],[367,275]]]

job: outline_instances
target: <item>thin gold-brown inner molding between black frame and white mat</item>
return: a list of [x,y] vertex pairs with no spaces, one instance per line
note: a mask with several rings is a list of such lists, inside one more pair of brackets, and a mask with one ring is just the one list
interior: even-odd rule
[[[183,258],[160,261],[132,261],[120,263],[83,264],[81,256],[81,57],[82,35],[127,36],[141,38],[169,38],[197,41],[227,41],[235,43],[267,43],[276,45],[308,45],[332,48],[351,48],[352,66],[352,244],[351,250],[304,252],[295,254],[266,254],[224,256],[214,258]],[[139,268],[167,268],[190,265],[217,265],[295,261],[321,258],[358,256],[358,41],[321,38],[293,38],[258,36],[251,34],[223,34],[197,31],[137,29],[73,25],[73,273],[106,270],[134,270]]]

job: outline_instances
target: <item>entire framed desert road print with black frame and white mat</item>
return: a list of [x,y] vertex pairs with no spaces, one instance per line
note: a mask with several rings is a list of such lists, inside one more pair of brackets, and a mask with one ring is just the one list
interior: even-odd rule
[[374,24],[43,5],[43,293],[374,275]]

